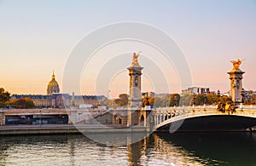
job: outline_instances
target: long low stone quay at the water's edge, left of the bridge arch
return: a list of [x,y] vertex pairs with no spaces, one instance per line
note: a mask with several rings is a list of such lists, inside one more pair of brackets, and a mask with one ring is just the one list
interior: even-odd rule
[[148,128],[113,125],[89,124],[44,124],[44,125],[9,125],[0,127],[0,135],[45,135],[45,134],[77,134],[77,133],[128,133],[148,132]]

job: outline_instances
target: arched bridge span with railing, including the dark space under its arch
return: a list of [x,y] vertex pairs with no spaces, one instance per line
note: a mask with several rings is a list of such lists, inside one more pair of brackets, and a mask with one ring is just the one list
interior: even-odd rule
[[254,126],[256,126],[256,106],[241,105],[234,112],[219,112],[217,106],[154,109],[154,130],[244,130]]

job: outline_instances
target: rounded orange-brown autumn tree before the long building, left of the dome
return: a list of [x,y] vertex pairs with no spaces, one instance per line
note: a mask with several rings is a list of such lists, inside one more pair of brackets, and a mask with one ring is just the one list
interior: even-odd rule
[[16,106],[19,109],[35,107],[33,101],[29,97],[21,97],[9,101],[9,106]]

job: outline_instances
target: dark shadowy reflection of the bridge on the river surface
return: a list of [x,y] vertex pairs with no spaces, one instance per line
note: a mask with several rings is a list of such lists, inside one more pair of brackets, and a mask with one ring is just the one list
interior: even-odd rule
[[159,137],[210,164],[256,165],[256,133],[175,133]]

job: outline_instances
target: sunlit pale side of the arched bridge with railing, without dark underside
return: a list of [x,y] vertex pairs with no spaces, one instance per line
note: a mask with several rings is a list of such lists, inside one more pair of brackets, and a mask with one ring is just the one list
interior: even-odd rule
[[[234,111],[218,111],[218,106],[174,106],[166,108],[154,109],[154,130],[159,130],[172,123],[181,121],[188,121],[189,119],[200,118],[202,123],[206,117],[222,117],[222,120],[229,121],[227,118],[242,118],[240,123],[245,123],[245,128],[255,129],[256,126],[256,106],[238,106]],[[227,118],[224,118],[227,117]],[[199,123],[198,123],[199,122]],[[196,125],[200,125],[200,121],[197,121]],[[218,122],[221,123],[227,122]],[[236,125],[236,120],[232,119],[232,122]],[[237,122],[239,123],[239,122]],[[182,124],[183,125],[183,124]],[[252,125],[252,126],[250,126]],[[251,127],[251,128],[250,128]]]

